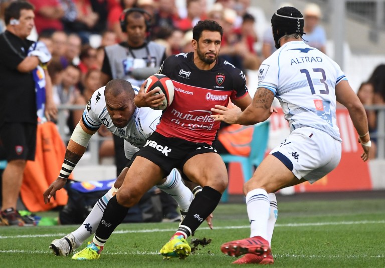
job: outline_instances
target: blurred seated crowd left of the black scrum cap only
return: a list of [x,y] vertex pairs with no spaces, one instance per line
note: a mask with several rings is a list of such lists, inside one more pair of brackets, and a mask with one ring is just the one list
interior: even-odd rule
[[[14,0],[2,1],[0,11]],[[258,70],[261,57],[255,44],[256,18],[249,0],[218,0],[208,9],[206,0],[187,0],[178,8],[170,0],[28,0],[35,7],[37,38],[52,54],[48,72],[56,105],[85,105],[103,86],[101,77],[104,48],[127,41],[122,31],[124,11],[146,12],[147,42],[165,47],[166,56],[192,51],[191,30],[199,20],[218,21],[224,27],[221,57],[246,70]],[[0,15],[1,16],[1,15]],[[1,17],[2,20],[4,16]],[[4,21],[2,32],[5,31]],[[96,39],[95,39],[96,37]],[[96,41],[95,41],[96,40]],[[82,110],[66,112],[65,133],[72,133]],[[100,131],[101,135],[104,135]],[[108,144],[108,143],[107,143]],[[101,156],[113,156],[113,146],[103,146]]]

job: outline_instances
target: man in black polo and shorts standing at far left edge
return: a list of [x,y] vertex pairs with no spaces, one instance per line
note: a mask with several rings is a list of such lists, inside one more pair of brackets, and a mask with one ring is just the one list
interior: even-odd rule
[[41,51],[28,56],[35,43],[27,40],[35,25],[34,18],[31,4],[13,2],[5,10],[7,29],[0,35],[0,142],[8,161],[3,173],[0,223],[5,225],[33,223],[20,216],[16,205],[26,160],[35,159],[38,118],[32,72],[51,58]]

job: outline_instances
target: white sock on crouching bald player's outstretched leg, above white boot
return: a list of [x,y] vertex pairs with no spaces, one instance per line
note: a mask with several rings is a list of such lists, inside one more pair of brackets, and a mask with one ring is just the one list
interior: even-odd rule
[[108,192],[96,202],[87,218],[83,221],[82,225],[80,225],[75,231],[71,232],[75,237],[76,244],[80,246],[88,237],[91,236],[91,234],[96,232],[100,220],[102,219],[104,209],[106,209],[108,201],[112,198],[112,194],[116,191],[117,189],[112,186],[112,188],[109,189]]

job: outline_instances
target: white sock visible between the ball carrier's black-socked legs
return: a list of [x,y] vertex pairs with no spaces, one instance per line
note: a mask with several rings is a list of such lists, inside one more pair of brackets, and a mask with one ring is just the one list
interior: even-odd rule
[[188,210],[191,201],[193,201],[193,193],[183,184],[182,178],[175,168],[171,170],[166,181],[156,185],[156,187],[171,195],[183,211]]

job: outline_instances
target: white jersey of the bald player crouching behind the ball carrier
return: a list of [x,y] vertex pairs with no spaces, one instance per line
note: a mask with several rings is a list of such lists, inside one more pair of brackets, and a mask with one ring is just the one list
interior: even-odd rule
[[[139,91],[138,87],[133,86],[133,88],[135,93]],[[96,131],[103,124],[114,135],[124,138],[131,145],[137,148],[143,147],[146,139],[155,131],[156,125],[159,124],[162,111],[148,107],[136,108],[127,126],[118,128],[112,123],[108,114],[104,89],[105,87],[101,87],[96,90],[88,101],[83,112],[84,125],[88,129]]]

